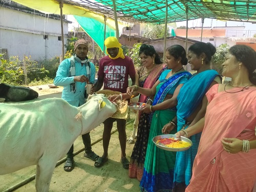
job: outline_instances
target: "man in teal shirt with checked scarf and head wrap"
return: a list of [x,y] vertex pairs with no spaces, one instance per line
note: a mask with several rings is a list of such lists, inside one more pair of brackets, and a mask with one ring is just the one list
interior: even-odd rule
[[[73,106],[80,106],[85,103],[86,84],[94,83],[95,66],[87,57],[88,45],[86,40],[78,39],[74,44],[75,54],[63,60],[54,78],[55,86],[62,86],[61,98],[68,101]],[[92,151],[90,133],[82,135],[85,148],[84,157],[96,161],[99,156]],[[71,172],[74,168],[74,145],[67,153],[67,161],[64,165],[66,172]]]

